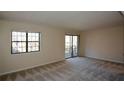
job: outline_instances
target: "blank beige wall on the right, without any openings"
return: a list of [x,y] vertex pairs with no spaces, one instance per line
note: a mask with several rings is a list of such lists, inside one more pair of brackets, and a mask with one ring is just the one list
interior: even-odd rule
[[82,32],[81,51],[82,56],[124,63],[123,26]]

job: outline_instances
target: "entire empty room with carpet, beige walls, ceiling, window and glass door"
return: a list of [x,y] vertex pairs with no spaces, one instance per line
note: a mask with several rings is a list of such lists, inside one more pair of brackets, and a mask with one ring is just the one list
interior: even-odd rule
[[0,11],[0,81],[124,81],[124,12]]

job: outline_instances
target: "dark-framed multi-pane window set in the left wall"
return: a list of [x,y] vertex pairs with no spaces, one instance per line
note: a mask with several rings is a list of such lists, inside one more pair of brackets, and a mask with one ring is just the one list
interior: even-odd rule
[[40,51],[40,33],[12,32],[12,54]]

